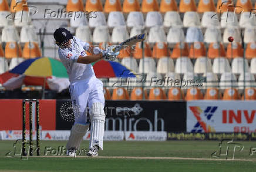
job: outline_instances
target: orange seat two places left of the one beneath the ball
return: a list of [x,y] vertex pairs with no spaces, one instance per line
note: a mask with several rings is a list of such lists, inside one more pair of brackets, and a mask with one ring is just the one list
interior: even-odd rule
[[200,58],[206,56],[206,48],[203,42],[194,42],[190,46],[189,55],[190,58]]

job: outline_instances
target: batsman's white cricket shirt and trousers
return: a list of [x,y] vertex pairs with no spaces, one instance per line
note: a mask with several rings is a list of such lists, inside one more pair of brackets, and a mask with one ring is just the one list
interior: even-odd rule
[[80,41],[75,36],[73,36],[73,39],[75,39],[76,45],[72,45],[72,48],[59,48],[59,58],[69,75],[71,99],[72,101],[75,100],[79,106],[80,114],[76,118],[75,124],[85,124],[86,107],[92,109],[92,104],[95,102],[105,104],[103,83],[96,78],[91,64],[76,63],[79,56],[87,56],[85,50],[89,49],[89,43]]

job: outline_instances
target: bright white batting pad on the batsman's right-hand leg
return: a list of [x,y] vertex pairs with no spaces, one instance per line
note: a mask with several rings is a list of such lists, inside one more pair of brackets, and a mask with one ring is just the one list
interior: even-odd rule
[[90,145],[89,148],[97,145],[103,150],[103,136],[105,128],[105,113],[104,105],[99,102],[92,104],[92,110],[90,111]]

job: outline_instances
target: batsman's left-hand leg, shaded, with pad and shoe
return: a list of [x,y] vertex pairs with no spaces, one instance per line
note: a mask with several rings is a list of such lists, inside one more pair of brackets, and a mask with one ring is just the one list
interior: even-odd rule
[[83,136],[85,136],[86,132],[89,130],[89,123],[86,123],[86,105],[89,96],[89,89],[85,83],[79,82],[75,85],[70,85],[70,95],[72,102],[76,103],[76,106],[79,106],[79,114],[75,114],[75,123],[70,131],[66,149],[68,156],[75,156],[75,151],[79,149]]

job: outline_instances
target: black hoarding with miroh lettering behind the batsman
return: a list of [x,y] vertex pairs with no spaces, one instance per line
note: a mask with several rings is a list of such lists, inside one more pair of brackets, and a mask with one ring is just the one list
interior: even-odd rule
[[[60,115],[60,107],[70,100],[56,101],[56,130],[70,130],[73,122]],[[105,114],[106,131],[186,131],[186,102],[107,100]]]

